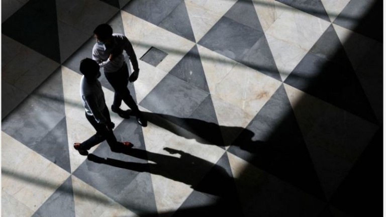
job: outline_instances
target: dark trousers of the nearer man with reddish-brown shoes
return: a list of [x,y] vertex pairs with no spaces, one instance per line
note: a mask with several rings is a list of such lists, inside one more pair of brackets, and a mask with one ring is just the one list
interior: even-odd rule
[[[105,109],[103,110],[103,116],[108,120],[108,122],[111,122],[110,118],[110,113],[109,109],[107,106],[105,106]],[[104,124],[99,124],[98,122],[95,121],[95,118],[93,116],[89,116],[86,113],[86,119],[88,122],[94,127],[96,130],[96,134],[91,136],[89,139],[86,141],[82,142],[80,144],[80,149],[86,149],[89,150],[91,147],[100,144],[103,141],[107,141],[107,143],[110,146],[110,149],[114,149],[118,146],[117,138],[115,138],[115,135],[112,130],[108,130],[106,128],[106,125]]]

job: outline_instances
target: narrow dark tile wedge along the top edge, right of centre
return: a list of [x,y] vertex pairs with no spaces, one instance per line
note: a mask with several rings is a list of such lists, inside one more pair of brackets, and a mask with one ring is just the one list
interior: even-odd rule
[[331,22],[321,0],[276,0],[315,17]]

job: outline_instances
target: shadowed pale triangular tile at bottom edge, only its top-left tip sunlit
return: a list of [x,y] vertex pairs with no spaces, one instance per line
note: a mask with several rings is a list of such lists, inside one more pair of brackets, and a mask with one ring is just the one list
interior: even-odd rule
[[245,216],[318,216],[326,206],[229,152],[228,159]]

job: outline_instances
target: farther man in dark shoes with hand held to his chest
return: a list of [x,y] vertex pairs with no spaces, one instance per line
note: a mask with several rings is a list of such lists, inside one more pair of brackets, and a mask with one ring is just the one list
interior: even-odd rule
[[[137,118],[137,122],[147,126],[147,121],[139,111],[137,103],[130,95],[127,85],[137,80],[139,67],[137,56],[130,41],[122,34],[113,34],[109,24],[101,24],[94,30],[96,43],[92,48],[92,59],[103,68],[105,77],[114,88],[114,101],[111,110],[123,118],[129,118],[130,112]],[[129,56],[133,65],[133,73],[129,77],[129,66],[125,62],[123,51]],[[120,106],[122,100],[131,108],[131,111],[123,111]]]

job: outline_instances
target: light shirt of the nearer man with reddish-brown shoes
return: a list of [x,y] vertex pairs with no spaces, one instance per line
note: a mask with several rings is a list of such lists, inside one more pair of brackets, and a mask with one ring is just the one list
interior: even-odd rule
[[103,116],[106,102],[101,82],[98,79],[89,81],[83,75],[80,79],[80,97],[87,115],[93,116],[100,124],[106,124],[107,120]]

